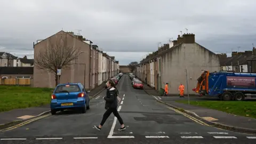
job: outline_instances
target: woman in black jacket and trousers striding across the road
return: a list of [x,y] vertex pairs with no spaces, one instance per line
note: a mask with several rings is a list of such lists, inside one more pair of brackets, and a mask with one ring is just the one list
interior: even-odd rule
[[103,118],[102,118],[102,121],[101,121],[100,125],[99,126],[94,125],[94,127],[97,130],[100,131],[103,124],[108,119],[108,117],[111,115],[111,113],[113,113],[117,117],[119,123],[121,124],[121,128],[118,129],[118,131],[125,130],[126,127],[124,126],[123,119],[121,118],[121,116],[118,114],[118,111],[117,111],[118,90],[116,89],[115,84],[113,83],[113,81],[111,81],[110,79],[107,81],[107,87],[108,87],[107,88],[107,95],[106,95],[106,97],[103,97],[103,99],[106,101],[106,104],[105,104],[106,112],[103,115]]

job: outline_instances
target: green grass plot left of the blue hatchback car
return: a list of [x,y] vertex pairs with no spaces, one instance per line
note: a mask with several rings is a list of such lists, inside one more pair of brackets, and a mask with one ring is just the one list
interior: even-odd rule
[[49,88],[0,85],[0,112],[49,104]]

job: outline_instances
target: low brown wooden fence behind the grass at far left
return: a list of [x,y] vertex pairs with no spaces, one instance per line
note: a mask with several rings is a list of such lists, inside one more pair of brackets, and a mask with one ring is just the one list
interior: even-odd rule
[[0,79],[1,85],[31,85],[29,78],[3,78]]

